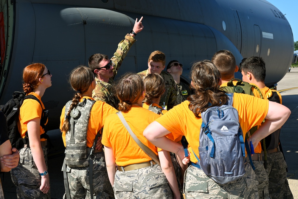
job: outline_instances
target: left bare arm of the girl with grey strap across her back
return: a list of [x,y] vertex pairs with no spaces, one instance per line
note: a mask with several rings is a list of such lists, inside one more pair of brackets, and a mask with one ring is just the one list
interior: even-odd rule
[[108,177],[112,186],[114,186],[115,173],[116,173],[116,159],[114,157],[112,147],[105,147],[105,164],[107,166]]

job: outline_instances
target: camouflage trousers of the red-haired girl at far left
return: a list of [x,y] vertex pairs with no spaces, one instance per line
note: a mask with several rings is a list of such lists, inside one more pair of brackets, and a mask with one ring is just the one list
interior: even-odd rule
[[[48,148],[42,147],[44,160],[47,166]],[[22,148],[19,151],[20,161],[18,166],[11,169],[11,180],[17,187],[18,198],[50,199],[50,190],[47,194],[41,192],[41,175],[36,167],[30,148]]]

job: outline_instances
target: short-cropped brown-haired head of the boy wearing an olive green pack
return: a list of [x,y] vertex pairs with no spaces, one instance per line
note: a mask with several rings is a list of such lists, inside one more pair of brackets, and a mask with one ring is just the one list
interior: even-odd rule
[[211,61],[221,73],[223,79],[230,79],[234,76],[236,60],[234,55],[228,50],[217,51]]

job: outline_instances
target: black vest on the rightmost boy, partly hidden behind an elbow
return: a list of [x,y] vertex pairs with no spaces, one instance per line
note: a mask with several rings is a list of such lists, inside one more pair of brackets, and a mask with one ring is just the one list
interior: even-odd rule
[[[272,91],[271,97],[268,98],[269,101],[274,101],[280,104],[280,98],[277,92]],[[265,138],[266,150],[275,149],[279,144],[280,129],[277,129]],[[263,149],[263,144],[261,144]],[[264,149],[263,149],[264,150]]]

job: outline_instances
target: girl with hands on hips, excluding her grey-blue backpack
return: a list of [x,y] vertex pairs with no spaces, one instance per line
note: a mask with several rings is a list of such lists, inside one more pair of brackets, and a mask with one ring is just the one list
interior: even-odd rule
[[[221,84],[221,75],[211,61],[194,63],[191,77],[195,94],[189,96],[189,101],[177,105],[151,123],[144,131],[145,137],[151,143],[165,150],[176,152],[184,163],[189,162],[189,159],[184,157],[183,146],[166,138],[165,135],[169,132],[177,132],[176,136],[185,135],[189,145],[198,155],[201,112],[209,107],[209,103],[212,106],[219,106],[228,100],[226,93],[218,89]],[[261,124],[266,118],[265,123],[251,137],[254,146],[257,146],[260,140],[271,132],[280,128],[291,113],[283,105],[238,93],[234,93],[233,107],[238,110],[239,122],[244,134],[251,127]],[[279,110],[279,114],[271,115],[276,110]],[[190,161],[197,162],[192,151],[190,151]],[[219,185],[201,169],[190,166],[184,177],[185,196],[186,198],[215,198],[220,195],[222,198],[257,199],[257,180],[250,164],[245,164],[245,170],[246,174],[242,178]]]

